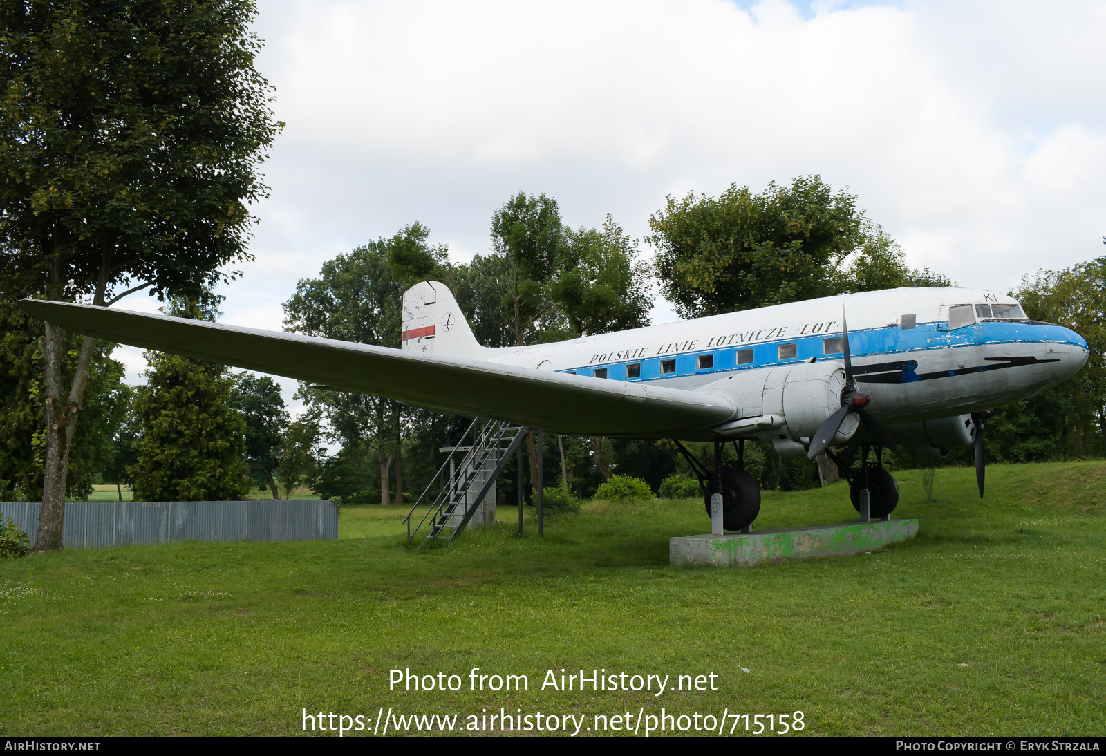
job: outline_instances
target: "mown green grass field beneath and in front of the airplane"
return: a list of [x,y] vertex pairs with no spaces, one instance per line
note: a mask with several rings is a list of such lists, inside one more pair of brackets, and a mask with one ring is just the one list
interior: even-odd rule
[[[807,735],[1106,732],[1106,464],[993,465],[983,502],[967,469],[938,471],[933,503],[918,472],[901,491],[916,539],[752,569],[668,565],[669,536],[709,528],[690,501],[585,504],[542,540],[501,510],[431,552],[405,546],[401,508],[365,506],[342,511],[338,540],[0,561],[0,732],[283,735],[301,707],[382,706],[461,725],[665,706],[802,711]],[[768,493],[757,527],[851,515],[844,484]],[[530,690],[470,692],[473,666]],[[389,692],[394,668],[463,687]],[[562,668],[714,673],[719,690],[540,690]]]

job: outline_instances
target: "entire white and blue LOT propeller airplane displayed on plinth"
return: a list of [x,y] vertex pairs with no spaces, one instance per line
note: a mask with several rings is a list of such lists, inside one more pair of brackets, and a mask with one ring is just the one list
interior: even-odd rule
[[834,459],[854,506],[866,491],[873,517],[898,502],[883,448],[900,443],[936,461],[974,444],[982,496],[988,413],[1058,384],[1088,356],[1078,334],[1030,321],[1011,297],[958,287],[848,294],[502,348],[478,344],[448,287],[432,281],[404,295],[400,349],[92,305],[20,305],[73,333],[456,414],[572,435],[714,441],[713,472],[687,456],[708,513],[711,494],[722,494],[727,529],[747,528],[760,511],[752,476],[740,463],[722,465],[729,440],[742,449],[761,439],[785,458],[859,444],[859,471]]

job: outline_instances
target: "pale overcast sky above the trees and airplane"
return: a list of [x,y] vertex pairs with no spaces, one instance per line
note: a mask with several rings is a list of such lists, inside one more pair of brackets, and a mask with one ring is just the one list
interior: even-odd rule
[[[286,126],[226,323],[279,328],[298,280],[415,220],[455,260],[487,252],[519,190],[640,238],[668,195],[818,174],[912,265],[1002,291],[1106,252],[1100,1],[259,10],[257,65]],[[137,380],[140,353],[117,356]]]

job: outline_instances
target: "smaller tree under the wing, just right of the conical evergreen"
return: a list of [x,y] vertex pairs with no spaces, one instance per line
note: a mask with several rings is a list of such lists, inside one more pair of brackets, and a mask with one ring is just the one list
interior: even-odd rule
[[280,386],[269,376],[242,371],[230,390],[230,406],[246,420],[246,464],[259,489],[269,486],[280,498],[273,471],[280,464],[288,411]]

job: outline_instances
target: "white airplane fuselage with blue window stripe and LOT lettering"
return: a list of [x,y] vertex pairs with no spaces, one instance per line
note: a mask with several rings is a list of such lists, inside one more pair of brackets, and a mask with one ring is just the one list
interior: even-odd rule
[[[1025,318],[985,290],[896,288],[795,302],[555,344],[481,349],[480,359],[607,380],[698,390],[726,378],[843,359],[847,317],[856,380],[870,411],[910,423],[1031,397],[1077,371],[1087,344]],[[477,356],[477,355],[474,355]],[[744,416],[766,411],[745,408]]]

